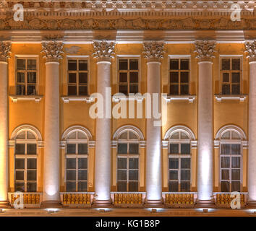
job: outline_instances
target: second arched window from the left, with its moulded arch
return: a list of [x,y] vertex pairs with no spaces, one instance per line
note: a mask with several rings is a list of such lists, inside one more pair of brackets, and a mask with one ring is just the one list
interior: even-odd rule
[[67,192],[88,191],[88,129],[72,126],[64,131],[65,184]]

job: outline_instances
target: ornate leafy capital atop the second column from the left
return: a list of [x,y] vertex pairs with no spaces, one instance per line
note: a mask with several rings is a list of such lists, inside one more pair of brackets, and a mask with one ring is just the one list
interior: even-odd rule
[[46,62],[59,62],[62,58],[63,43],[59,40],[44,40],[42,41],[42,51],[45,53],[43,58],[46,58]]

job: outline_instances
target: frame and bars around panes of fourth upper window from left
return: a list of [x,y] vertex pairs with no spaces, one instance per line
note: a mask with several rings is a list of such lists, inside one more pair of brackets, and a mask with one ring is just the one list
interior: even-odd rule
[[[171,94],[171,90],[170,90],[170,87],[171,87],[171,69],[170,69],[170,63],[171,63],[171,59],[179,59],[179,94],[178,95],[175,95],[175,96],[187,96],[187,95],[191,95],[190,92],[191,92],[191,55],[168,55],[168,95],[173,95]],[[180,60],[181,59],[188,59],[189,60],[189,81],[188,81],[188,84],[189,84],[189,92],[187,95],[182,95],[180,94],[181,90],[180,90],[180,86],[181,86],[181,82],[180,82],[180,72],[182,71],[180,69]],[[184,71],[187,71],[187,70],[184,70]]]

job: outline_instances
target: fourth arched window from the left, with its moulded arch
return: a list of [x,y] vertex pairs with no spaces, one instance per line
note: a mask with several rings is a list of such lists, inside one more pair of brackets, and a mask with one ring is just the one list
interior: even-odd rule
[[168,191],[191,191],[191,141],[195,135],[185,126],[170,128],[168,140]]

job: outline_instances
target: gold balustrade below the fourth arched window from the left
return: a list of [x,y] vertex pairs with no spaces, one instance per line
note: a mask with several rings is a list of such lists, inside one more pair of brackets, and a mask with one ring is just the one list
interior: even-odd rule
[[182,192],[182,193],[165,193],[163,192],[163,200],[165,206],[174,208],[191,208],[197,199],[196,192]]

